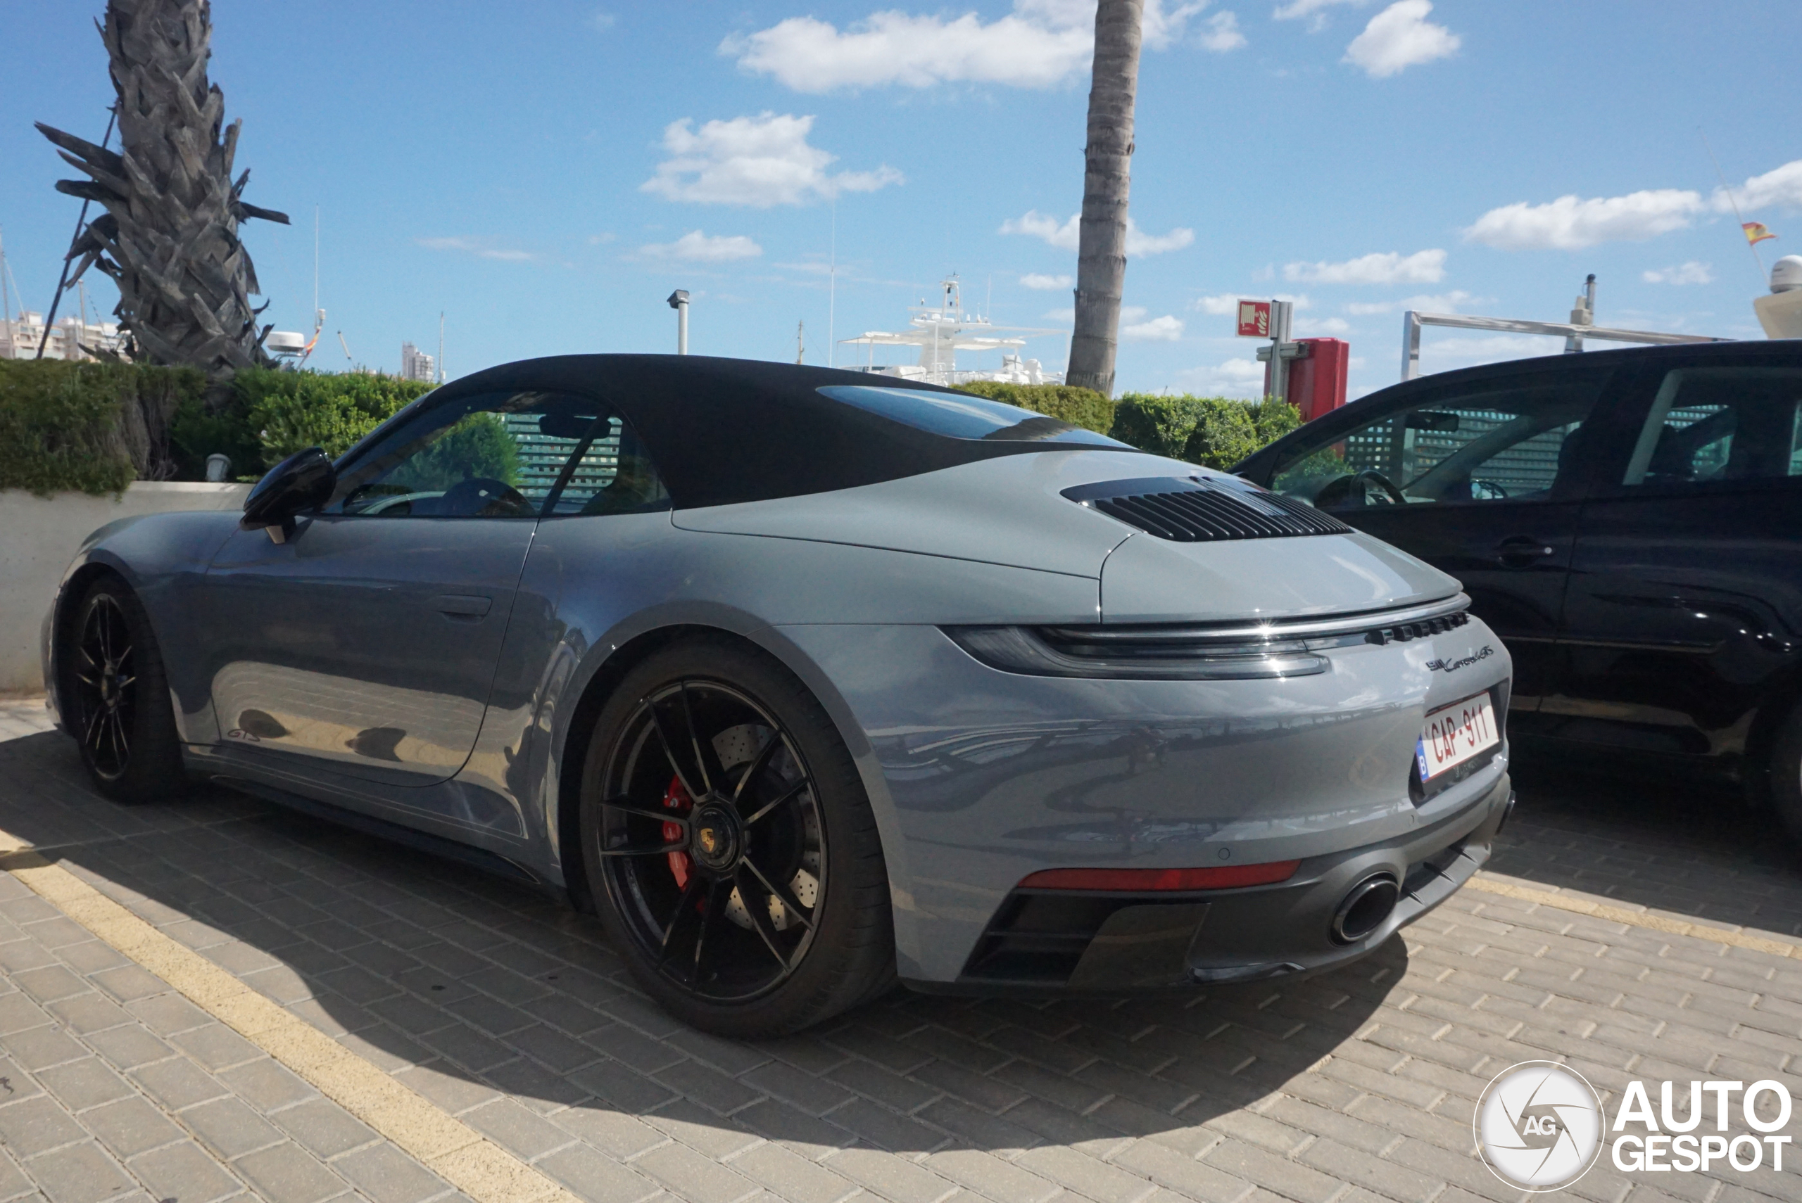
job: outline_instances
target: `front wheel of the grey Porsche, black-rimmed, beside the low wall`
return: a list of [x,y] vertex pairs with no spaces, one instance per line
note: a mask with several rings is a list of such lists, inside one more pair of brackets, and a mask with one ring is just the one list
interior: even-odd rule
[[150,616],[112,576],[88,587],[58,654],[68,731],[106,798],[153,801],[186,783],[182,744]]

